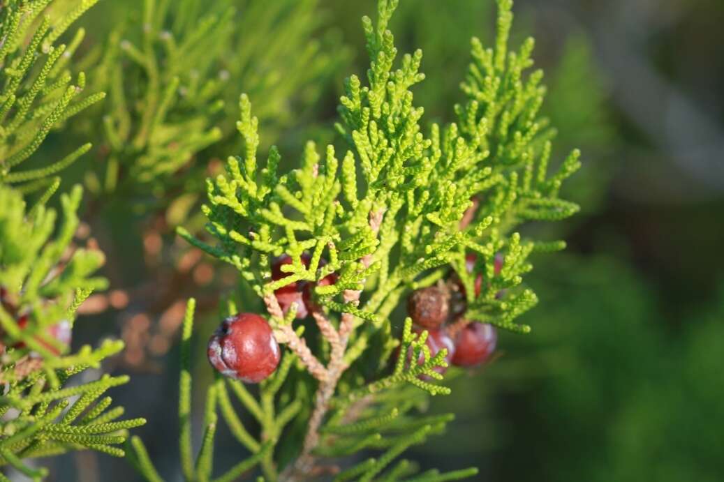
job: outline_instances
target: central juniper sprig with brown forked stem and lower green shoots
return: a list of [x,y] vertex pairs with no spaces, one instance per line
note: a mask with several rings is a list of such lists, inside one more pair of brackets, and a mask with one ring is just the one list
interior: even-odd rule
[[[531,255],[563,249],[565,243],[534,240],[518,229],[576,213],[578,206],[559,191],[580,166],[579,154],[573,151],[550,172],[554,131],[539,116],[542,72],[529,71],[532,39],[508,50],[510,0],[498,1],[494,47],[473,38],[473,59],[461,84],[466,100],[455,106],[457,122],[423,130],[423,109],[413,104],[411,92],[424,80],[418,70],[422,54],[403,56],[394,69],[397,49],[387,25],[395,7],[396,0],[379,0],[377,22],[363,18],[371,64],[366,82],[356,75],[345,82],[337,124],[348,146],[342,160],[332,145],[320,155],[308,143],[298,169],[279,174],[274,147],[261,164],[258,119],[243,95],[237,123],[243,156],[230,157],[226,172],[207,180],[209,203],[202,207],[216,242],[178,229],[191,244],[237,269],[241,286],[264,301],[277,342],[287,347],[277,373],[261,384],[259,401],[237,381],[217,379],[211,386],[195,465],[188,439],[190,379],[182,371],[181,452],[188,480],[211,477],[217,411],[253,454],[219,480],[231,480],[257,462],[269,480],[335,473],[340,481],[442,481],[476,473],[414,475],[411,462],[391,465],[411,445],[443,431],[452,417],[419,414],[425,394],[450,393],[435,370],[447,365],[447,353],[433,354],[429,334],[413,331],[410,318],[400,326],[393,311],[412,289],[454,274],[466,297],[460,319],[530,331],[517,321],[537,303],[523,275],[532,269]],[[466,268],[471,254],[472,273]],[[290,263],[280,266],[284,275],[278,278],[271,262],[281,255]],[[333,273],[333,283],[321,283]],[[473,273],[484,275],[480,289]],[[304,302],[314,323],[295,327],[299,304],[285,313],[275,292],[298,282],[314,286]],[[233,303],[229,312],[235,312]],[[190,335],[187,317],[185,343]],[[420,363],[395,358],[396,347]],[[183,356],[188,363],[188,354]],[[232,408],[227,386],[259,421],[258,439]],[[159,480],[139,440],[135,448],[141,472]],[[363,449],[382,453],[338,470],[335,460]]]

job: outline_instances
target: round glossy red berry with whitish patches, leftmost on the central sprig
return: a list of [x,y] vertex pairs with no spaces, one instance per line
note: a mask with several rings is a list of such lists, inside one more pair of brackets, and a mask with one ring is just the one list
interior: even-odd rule
[[274,373],[281,358],[269,323],[256,313],[238,313],[222,321],[206,354],[216,371],[250,384]]

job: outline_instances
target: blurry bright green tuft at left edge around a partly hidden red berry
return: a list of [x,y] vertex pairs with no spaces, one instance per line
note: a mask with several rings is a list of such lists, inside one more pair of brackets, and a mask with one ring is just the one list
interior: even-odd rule
[[[62,320],[70,321],[80,298],[94,289],[104,289],[106,280],[92,276],[104,262],[98,250],[70,248],[77,229],[76,211],[81,189],[61,196],[63,222],[56,230],[56,211],[36,204],[26,211],[17,190],[0,185],[0,286],[4,298],[12,300],[18,313],[28,313],[28,327],[20,329],[14,313],[0,306],[4,343],[25,344],[6,356],[17,360],[28,350],[53,358],[54,339],[46,329]],[[69,251],[70,248],[70,251]],[[60,347],[58,347],[60,348]],[[7,361],[7,360],[4,360]],[[57,363],[55,360],[52,363]]]

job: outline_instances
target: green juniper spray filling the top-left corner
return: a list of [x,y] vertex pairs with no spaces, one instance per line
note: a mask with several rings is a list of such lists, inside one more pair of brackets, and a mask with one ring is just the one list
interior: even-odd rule
[[74,80],[70,72],[83,29],[70,43],[56,45],[96,1],[11,0],[0,9],[0,182],[22,183],[24,193],[52,193],[59,183],[54,174],[90,150],[85,144],[58,161],[17,170],[52,129],[105,96],[84,96],[85,75],[79,72]]

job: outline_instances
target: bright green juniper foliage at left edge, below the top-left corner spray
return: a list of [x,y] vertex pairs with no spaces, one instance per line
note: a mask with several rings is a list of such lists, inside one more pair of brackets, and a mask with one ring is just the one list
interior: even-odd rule
[[117,421],[122,407],[106,410],[111,399],[101,398],[127,377],[80,383],[73,378],[98,368],[122,350],[122,342],[66,354],[68,347],[53,335],[52,327],[75,324],[75,312],[90,292],[106,287],[105,279],[93,276],[103,254],[72,244],[80,195],[76,186],[61,196],[64,216],[56,226],[56,211],[43,204],[27,211],[17,190],[0,185],[0,465],[12,465],[33,480],[47,471],[24,459],[83,448],[122,457],[114,445],[125,440],[127,428],[145,423]]

